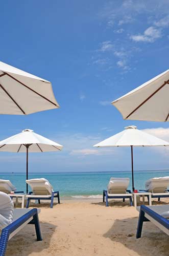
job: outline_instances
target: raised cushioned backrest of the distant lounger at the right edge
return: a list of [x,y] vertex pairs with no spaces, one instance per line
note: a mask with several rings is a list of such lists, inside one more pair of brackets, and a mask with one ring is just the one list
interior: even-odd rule
[[169,186],[169,177],[153,178],[146,181],[146,190],[151,193],[165,193]]

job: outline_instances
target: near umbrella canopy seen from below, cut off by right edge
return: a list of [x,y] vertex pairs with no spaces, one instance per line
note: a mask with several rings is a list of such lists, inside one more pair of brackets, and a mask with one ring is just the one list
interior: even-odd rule
[[169,70],[154,77],[112,104],[124,119],[169,121]]

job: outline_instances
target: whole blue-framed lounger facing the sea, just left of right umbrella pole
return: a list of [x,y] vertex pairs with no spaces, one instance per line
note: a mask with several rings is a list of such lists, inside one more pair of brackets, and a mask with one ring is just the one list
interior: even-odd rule
[[133,205],[132,202],[132,194],[130,190],[127,190],[129,186],[130,179],[129,178],[111,178],[109,184],[107,186],[107,190],[103,190],[103,202],[105,202],[106,198],[106,206],[108,207],[108,199],[115,198],[123,198],[123,202],[125,199],[130,199],[130,205]]

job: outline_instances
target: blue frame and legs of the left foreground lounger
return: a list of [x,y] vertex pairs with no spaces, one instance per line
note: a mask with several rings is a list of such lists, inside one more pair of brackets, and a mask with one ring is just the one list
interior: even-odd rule
[[41,237],[41,231],[40,231],[40,225],[39,225],[39,218],[38,218],[38,211],[36,208],[30,210],[14,222],[12,222],[10,225],[2,229],[1,238],[0,238],[0,256],[4,256],[9,236],[12,232],[14,232],[18,227],[20,227],[22,224],[27,222],[30,218],[33,218],[28,224],[34,224],[35,230],[36,230],[36,237],[37,241],[42,241]]

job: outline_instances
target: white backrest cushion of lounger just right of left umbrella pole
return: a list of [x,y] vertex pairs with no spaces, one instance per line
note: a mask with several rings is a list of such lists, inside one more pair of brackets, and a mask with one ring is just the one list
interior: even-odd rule
[[26,182],[30,185],[32,188],[32,191],[38,190],[38,188],[47,190],[49,194],[52,194],[53,192],[53,186],[50,184],[50,182],[44,178],[40,179],[31,179],[31,180],[26,180]]

